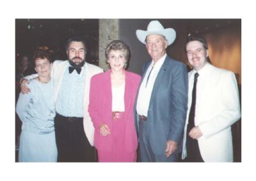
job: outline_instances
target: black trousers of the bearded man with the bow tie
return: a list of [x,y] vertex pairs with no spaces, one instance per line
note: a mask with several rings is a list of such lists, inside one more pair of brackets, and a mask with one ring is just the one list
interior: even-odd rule
[[86,138],[83,118],[63,117],[56,113],[54,119],[58,162],[95,162],[95,148]]

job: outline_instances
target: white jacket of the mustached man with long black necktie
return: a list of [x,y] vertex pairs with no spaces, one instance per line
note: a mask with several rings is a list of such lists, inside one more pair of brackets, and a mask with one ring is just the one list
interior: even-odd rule
[[[239,92],[234,73],[207,64],[199,72],[196,86],[195,126],[202,136],[198,139],[205,162],[232,162],[231,126],[240,119]],[[186,133],[195,71],[188,73],[188,113],[184,127],[182,159],[187,156]]]

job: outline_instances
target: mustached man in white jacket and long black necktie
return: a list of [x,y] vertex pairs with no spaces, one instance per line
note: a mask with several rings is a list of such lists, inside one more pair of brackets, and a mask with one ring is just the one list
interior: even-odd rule
[[231,71],[216,68],[207,61],[208,45],[202,37],[188,38],[186,54],[193,70],[188,73],[182,159],[232,162],[231,126],[241,117],[236,77]]

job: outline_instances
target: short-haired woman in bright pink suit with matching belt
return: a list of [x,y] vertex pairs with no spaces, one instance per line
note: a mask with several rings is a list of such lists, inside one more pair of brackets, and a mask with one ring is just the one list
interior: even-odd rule
[[88,108],[99,162],[135,162],[133,106],[141,77],[125,71],[130,51],[124,42],[109,43],[105,56],[110,70],[92,77]]

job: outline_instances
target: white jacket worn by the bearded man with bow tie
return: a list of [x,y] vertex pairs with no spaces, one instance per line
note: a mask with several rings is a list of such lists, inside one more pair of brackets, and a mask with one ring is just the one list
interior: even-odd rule
[[[54,80],[54,103],[56,103],[58,98],[59,89],[61,87],[61,82],[63,78],[63,74],[65,69],[69,66],[68,61],[54,61],[52,65],[51,77]],[[89,91],[90,91],[90,80],[93,75],[103,72],[101,68],[98,66],[88,64],[85,62],[84,64],[85,69],[85,87],[84,87],[84,132],[88,141],[93,146],[93,138],[94,138],[94,127],[92,124],[92,120],[88,113],[88,105],[89,105]],[[26,76],[28,80],[35,77],[33,76]]]

